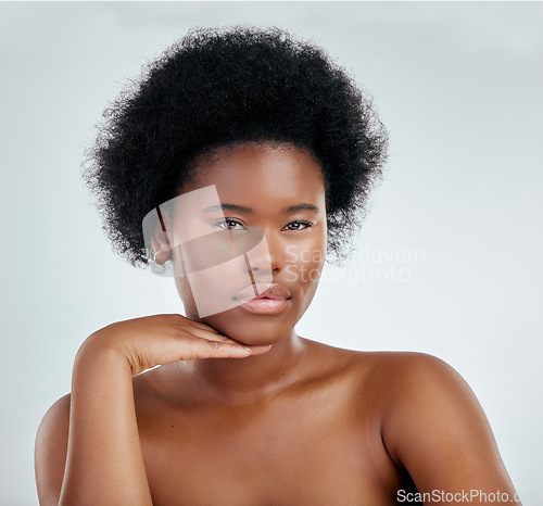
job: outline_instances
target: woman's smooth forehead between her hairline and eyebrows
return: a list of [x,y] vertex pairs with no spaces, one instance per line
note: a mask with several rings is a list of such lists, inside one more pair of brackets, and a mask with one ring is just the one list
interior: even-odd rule
[[222,201],[258,203],[323,201],[319,163],[291,146],[241,144],[195,164],[195,175],[180,193],[215,185]]

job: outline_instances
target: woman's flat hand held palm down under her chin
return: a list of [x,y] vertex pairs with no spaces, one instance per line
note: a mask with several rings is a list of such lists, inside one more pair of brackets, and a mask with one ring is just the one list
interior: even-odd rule
[[118,321],[92,333],[79,353],[114,350],[128,360],[132,376],[157,365],[195,358],[244,358],[272,346],[245,346],[213,327],[182,315],[155,315]]

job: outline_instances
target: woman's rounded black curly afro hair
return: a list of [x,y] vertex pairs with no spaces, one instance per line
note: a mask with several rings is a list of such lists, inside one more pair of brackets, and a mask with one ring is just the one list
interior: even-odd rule
[[104,111],[83,176],[114,251],[148,265],[144,215],[176,197],[200,156],[250,141],[292,144],[320,163],[328,249],[342,260],[382,176],[387,130],[321,48],[240,26],[189,31]]

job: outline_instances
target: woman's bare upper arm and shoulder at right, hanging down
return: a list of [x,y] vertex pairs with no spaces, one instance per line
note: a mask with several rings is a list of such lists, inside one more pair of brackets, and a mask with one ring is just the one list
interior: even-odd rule
[[[426,354],[409,354],[396,378],[383,419],[383,441],[417,490],[500,491],[513,499],[515,489],[492,429],[466,381]],[[471,504],[478,502],[475,497]]]

